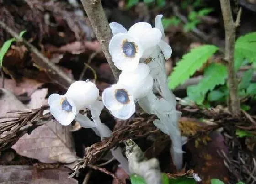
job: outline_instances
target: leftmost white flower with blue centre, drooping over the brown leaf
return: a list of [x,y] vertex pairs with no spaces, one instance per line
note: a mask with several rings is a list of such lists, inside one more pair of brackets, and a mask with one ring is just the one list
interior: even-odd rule
[[50,112],[62,125],[69,125],[79,110],[95,103],[99,89],[92,82],[76,81],[70,85],[65,95],[52,94],[48,104]]

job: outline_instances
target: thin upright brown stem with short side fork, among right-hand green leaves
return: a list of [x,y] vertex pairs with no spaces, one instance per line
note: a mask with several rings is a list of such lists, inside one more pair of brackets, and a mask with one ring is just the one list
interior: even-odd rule
[[239,22],[241,10],[234,22],[229,0],[220,0],[220,6],[225,27],[225,60],[228,64],[228,84],[230,90],[229,110],[234,116],[240,116],[240,99],[238,97],[237,79],[234,68],[235,30]]

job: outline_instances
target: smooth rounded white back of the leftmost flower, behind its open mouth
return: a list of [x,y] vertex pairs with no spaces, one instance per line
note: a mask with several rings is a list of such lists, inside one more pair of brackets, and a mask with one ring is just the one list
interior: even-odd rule
[[64,96],[71,98],[74,101],[77,110],[80,110],[97,100],[99,89],[92,82],[80,80],[71,84]]

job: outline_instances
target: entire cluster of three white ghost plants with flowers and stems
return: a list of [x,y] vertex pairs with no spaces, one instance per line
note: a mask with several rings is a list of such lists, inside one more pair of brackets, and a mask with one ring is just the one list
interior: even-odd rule
[[[172,50],[164,41],[161,18],[162,15],[156,16],[154,28],[149,23],[139,22],[126,30],[117,22],[110,23],[113,37],[109,53],[122,72],[117,84],[103,91],[103,103],[97,100],[99,90],[96,85],[89,81],[76,81],[65,95],[53,94],[48,101],[51,113],[61,124],[69,125],[75,119],[81,126],[92,128],[101,138],[111,134],[99,118],[104,105],[113,116],[125,120],[135,113],[135,103],[138,102],[145,112],[158,116],[154,124],[170,135],[173,161],[181,169],[182,144],[177,124],[180,113],[175,109],[176,100],[168,89],[165,73],[165,59],[171,57]],[[153,88],[162,98],[155,96]],[[83,109],[91,111],[93,121],[79,113]],[[128,168],[120,148],[112,150],[112,154],[124,168]]]

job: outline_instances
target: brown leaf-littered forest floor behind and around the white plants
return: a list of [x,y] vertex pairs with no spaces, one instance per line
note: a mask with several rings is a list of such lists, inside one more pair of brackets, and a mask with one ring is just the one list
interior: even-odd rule
[[[200,9],[213,8],[214,11],[188,32],[182,25],[188,21],[189,12],[198,8],[193,7],[189,0],[186,2],[185,8],[177,8],[182,4],[178,0],[168,1],[164,7],[147,6],[141,2],[126,9],[124,0],[102,0],[102,5],[109,22],[117,21],[126,28],[139,21],[152,24],[158,14],[181,18],[177,25],[165,28],[165,40],[172,47],[172,56],[165,64],[169,75],[183,54],[206,43],[220,48],[215,62],[222,62],[223,58],[224,25],[219,1],[204,0]],[[243,6],[237,37],[256,31],[256,2],[248,2],[240,0],[233,5],[234,12]],[[51,63],[72,80],[95,81],[101,95],[105,88],[114,84],[115,79],[88,18],[76,15],[79,9],[83,10],[81,4],[74,7],[66,0],[0,0],[0,21],[17,34],[26,30],[23,38]],[[0,28],[0,46],[10,38],[11,35]],[[182,175],[192,169],[202,177],[204,184],[210,184],[213,178],[231,184],[238,181],[256,183],[256,102],[244,99],[251,108],[243,110],[240,118],[233,117],[225,104],[214,104],[207,109],[181,103],[181,99],[186,97],[187,86],[198,83],[203,68],[174,89],[176,109],[182,112],[179,121],[181,134],[188,137],[183,146],[184,169],[177,172],[169,152],[169,137],[153,125],[154,116],[139,108],[133,118],[126,121],[115,119],[104,109],[101,121],[114,133],[102,142],[91,129],[81,128],[76,122],[71,127],[57,125],[52,116],[43,112],[48,108],[48,96],[64,94],[69,83],[58,74],[49,73],[49,68],[42,65],[42,58],[22,42],[13,43],[4,57],[0,79],[3,88],[0,93],[0,182],[26,183],[34,179],[43,183],[115,184],[117,178],[125,182],[128,175],[118,168],[117,161],[107,151],[117,145],[124,147],[122,142],[131,138],[147,158],[159,159],[162,172]],[[11,118],[11,121],[6,121],[6,118]],[[237,128],[250,132],[251,136],[237,136]],[[52,144],[53,141],[57,146]],[[68,152],[75,156],[51,162],[49,152]],[[86,167],[67,179],[72,173],[72,164],[67,164],[69,159],[83,158],[84,155],[88,163]]]

